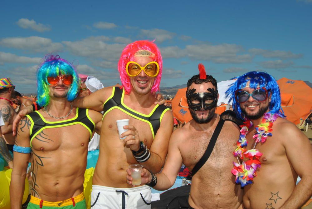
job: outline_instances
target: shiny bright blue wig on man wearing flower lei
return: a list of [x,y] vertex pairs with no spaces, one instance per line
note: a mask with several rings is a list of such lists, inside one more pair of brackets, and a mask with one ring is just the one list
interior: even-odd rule
[[278,113],[280,117],[285,117],[283,109],[280,107],[280,88],[274,77],[266,72],[247,72],[242,76],[235,77],[232,79],[237,79],[231,87],[225,92],[226,97],[229,97],[229,102],[233,101],[233,110],[235,111],[237,117],[244,119],[244,115],[241,112],[241,107],[235,100],[235,91],[237,89],[243,89],[246,87],[247,83],[250,88],[256,89],[257,87],[265,87],[268,91],[268,97],[271,96],[271,102],[269,103],[269,113]]

